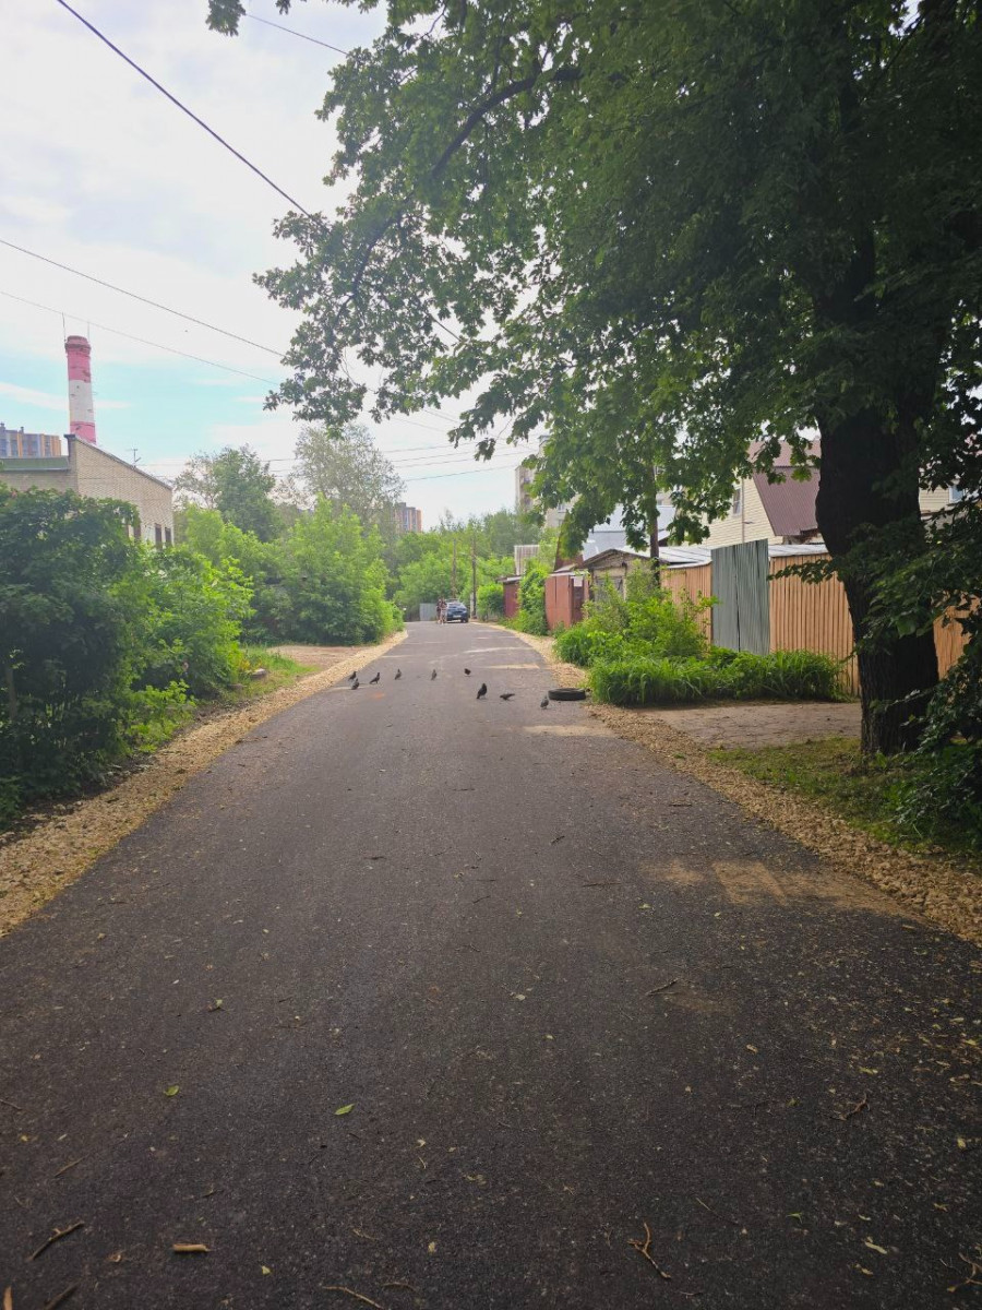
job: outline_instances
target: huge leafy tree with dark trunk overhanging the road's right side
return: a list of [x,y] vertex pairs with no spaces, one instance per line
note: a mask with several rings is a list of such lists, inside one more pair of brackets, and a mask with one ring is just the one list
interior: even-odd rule
[[[280,9],[289,0],[279,0]],[[241,5],[213,0],[234,31]],[[973,0],[390,0],[322,115],[355,178],[261,282],[302,310],[279,402],[342,422],[471,388],[488,455],[545,426],[539,490],[571,531],[652,485],[677,536],[719,515],[762,439],[807,462],[850,601],[863,744],[917,740],[931,634],[867,642],[869,559],[924,549],[982,419],[982,21]],[[449,320],[452,326],[446,326]],[[659,469],[657,478],[655,469]],[[589,512],[587,512],[589,510]]]

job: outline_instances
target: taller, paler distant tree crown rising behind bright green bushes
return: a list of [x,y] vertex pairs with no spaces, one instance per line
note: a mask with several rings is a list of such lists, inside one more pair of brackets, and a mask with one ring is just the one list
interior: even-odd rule
[[297,440],[296,478],[313,503],[347,506],[365,527],[393,534],[393,507],[403,483],[364,423],[305,427]]

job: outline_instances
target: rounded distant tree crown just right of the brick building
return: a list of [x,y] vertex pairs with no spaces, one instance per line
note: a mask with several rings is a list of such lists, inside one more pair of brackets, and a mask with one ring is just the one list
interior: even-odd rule
[[272,541],[280,532],[280,514],[271,498],[275,486],[270,465],[247,445],[195,455],[174,479],[181,504],[217,510],[223,519],[261,541]]

